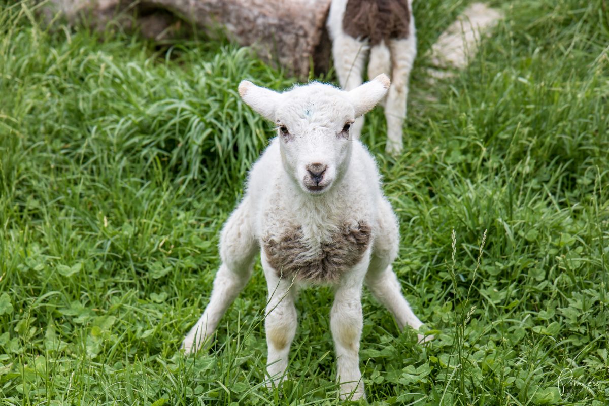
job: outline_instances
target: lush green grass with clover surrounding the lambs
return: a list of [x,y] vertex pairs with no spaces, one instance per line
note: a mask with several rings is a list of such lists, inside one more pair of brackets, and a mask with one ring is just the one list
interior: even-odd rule
[[[606,405],[609,4],[495,2],[470,68],[431,83],[425,51],[465,5],[415,2],[404,155],[382,152],[382,111],[364,128],[394,268],[437,337],[417,345],[365,293],[367,402]],[[325,288],[300,296],[290,379],[262,387],[259,264],[209,352],[177,354],[271,136],[244,78],[294,82],[226,42],[158,51],[2,6],[0,405],[338,403]]]

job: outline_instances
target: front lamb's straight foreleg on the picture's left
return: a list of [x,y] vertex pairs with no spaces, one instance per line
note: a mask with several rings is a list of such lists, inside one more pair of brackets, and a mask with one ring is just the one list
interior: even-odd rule
[[277,276],[275,269],[270,267],[266,261],[264,253],[262,254],[262,266],[269,288],[264,327],[269,350],[267,373],[270,380],[267,387],[270,388],[281,383],[287,369],[290,345],[292,345],[298,325],[294,306],[297,287],[292,284],[292,281]]

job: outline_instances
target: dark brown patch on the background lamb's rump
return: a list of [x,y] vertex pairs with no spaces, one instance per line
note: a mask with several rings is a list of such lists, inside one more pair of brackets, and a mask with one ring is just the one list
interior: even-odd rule
[[410,9],[407,0],[348,0],[343,15],[343,31],[353,38],[382,40],[408,38]]

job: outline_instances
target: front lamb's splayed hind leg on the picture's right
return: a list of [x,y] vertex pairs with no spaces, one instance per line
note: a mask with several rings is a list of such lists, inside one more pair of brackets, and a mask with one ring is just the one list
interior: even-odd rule
[[[423,323],[410,309],[410,305],[402,295],[400,282],[391,267],[398,253],[399,241],[400,234],[395,215],[389,202],[383,199],[379,207],[379,234],[375,239],[365,282],[376,299],[393,314],[400,329],[408,325],[418,330]],[[418,334],[419,342],[432,338]]]

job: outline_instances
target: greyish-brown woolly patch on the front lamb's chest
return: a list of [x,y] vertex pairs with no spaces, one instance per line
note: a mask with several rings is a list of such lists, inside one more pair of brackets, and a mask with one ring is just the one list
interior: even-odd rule
[[328,242],[320,244],[315,257],[301,257],[309,251],[302,229],[294,228],[279,239],[262,240],[269,264],[280,278],[309,282],[336,282],[340,275],[357,264],[370,244],[371,228],[358,222],[357,228],[343,225]]

